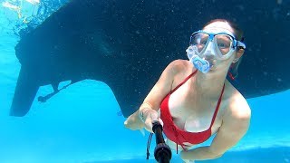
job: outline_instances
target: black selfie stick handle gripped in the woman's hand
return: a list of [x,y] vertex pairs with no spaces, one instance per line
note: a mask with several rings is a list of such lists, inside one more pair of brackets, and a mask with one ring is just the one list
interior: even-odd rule
[[165,144],[165,141],[163,139],[162,125],[160,124],[159,121],[155,121],[152,124],[153,124],[152,130],[155,133],[156,137],[156,147],[154,149],[154,157],[160,163],[169,163],[172,157],[172,153],[171,149],[167,144]]

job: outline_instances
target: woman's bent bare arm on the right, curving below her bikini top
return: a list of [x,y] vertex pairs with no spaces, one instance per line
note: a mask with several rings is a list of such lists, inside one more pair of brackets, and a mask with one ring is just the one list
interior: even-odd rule
[[223,115],[223,121],[210,146],[181,152],[182,159],[204,160],[221,157],[247,133],[251,110],[247,101],[235,102]]

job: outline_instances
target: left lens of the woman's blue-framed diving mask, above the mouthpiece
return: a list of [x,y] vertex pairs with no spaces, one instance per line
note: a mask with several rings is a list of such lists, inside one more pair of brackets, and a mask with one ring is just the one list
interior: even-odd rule
[[193,34],[191,35],[190,45],[196,46],[200,53],[208,43],[208,34]]

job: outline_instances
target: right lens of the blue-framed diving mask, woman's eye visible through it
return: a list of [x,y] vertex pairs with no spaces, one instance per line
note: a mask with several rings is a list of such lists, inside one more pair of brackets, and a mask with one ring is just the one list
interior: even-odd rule
[[233,39],[227,34],[217,34],[215,40],[218,46],[218,50],[221,54],[226,55],[233,45]]

